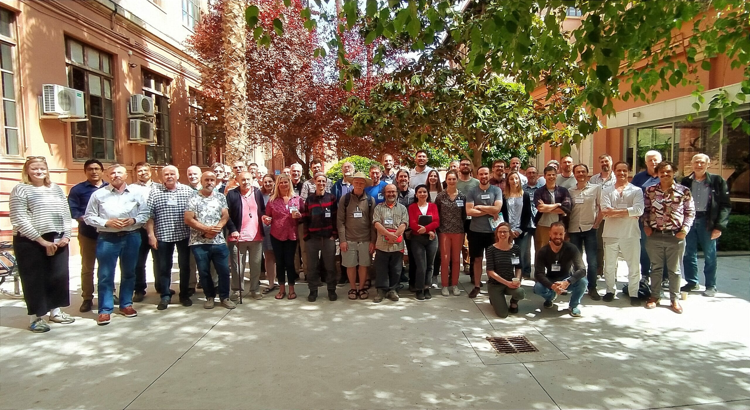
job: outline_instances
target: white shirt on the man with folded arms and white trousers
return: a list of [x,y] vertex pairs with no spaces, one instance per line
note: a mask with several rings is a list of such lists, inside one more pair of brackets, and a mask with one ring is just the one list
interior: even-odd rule
[[606,208],[627,209],[627,217],[604,217],[604,238],[640,238],[638,217],[643,215],[643,190],[628,182],[622,189],[622,195],[614,185],[604,188],[599,199],[601,210]]

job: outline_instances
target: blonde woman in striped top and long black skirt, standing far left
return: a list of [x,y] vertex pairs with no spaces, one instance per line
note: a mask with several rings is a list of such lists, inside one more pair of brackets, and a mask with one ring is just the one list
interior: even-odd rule
[[49,181],[44,157],[29,157],[23,164],[21,183],[10,193],[13,252],[23,286],[30,331],[49,331],[49,322],[72,323],[60,310],[71,304],[68,278],[68,241],[71,210],[57,184]]

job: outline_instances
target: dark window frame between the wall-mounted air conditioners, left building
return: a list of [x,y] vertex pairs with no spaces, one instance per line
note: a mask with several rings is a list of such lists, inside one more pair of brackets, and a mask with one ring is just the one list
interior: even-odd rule
[[[80,63],[78,61],[74,61],[72,59],[72,55],[71,55],[71,43],[73,43],[73,42],[80,44],[81,47],[82,47],[83,58],[84,58],[83,63]],[[89,65],[86,64],[86,60],[89,58],[88,55],[87,55],[87,53],[86,53],[86,49],[92,49],[92,50],[94,50],[94,51],[96,51],[96,52],[99,53],[99,61],[100,61],[100,63],[99,63],[99,67],[98,68],[90,67]],[[110,73],[107,73],[107,71],[104,71],[104,70],[101,69],[101,68],[104,67],[104,62],[103,62],[104,59],[102,57],[105,57],[105,58],[108,57],[109,58]],[[85,74],[84,82],[86,84],[85,87],[84,87],[86,89],[85,90],[79,90],[79,91],[83,92],[84,104],[86,106],[86,118],[87,118],[88,121],[80,121],[80,122],[73,122],[73,123],[71,123],[71,131],[70,131],[70,136],[71,136],[71,157],[73,158],[74,161],[86,161],[86,160],[89,160],[90,158],[95,158],[95,159],[98,159],[98,160],[101,160],[101,161],[105,161],[105,162],[117,162],[117,127],[118,127],[118,121],[117,120],[118,120],[118,118],[117,118],[117,109],[115,108],[115,96],[114,96],[114,93],[115,93],[114,87],[115,87],[115,83],[116,83],[115,82],[115,73],[114,73],[114,70],[113,70],[113,68],[114,68],[114,60],[115,60],[115,55],[113,55],[110,52],[107,52],[107,50],[100,49],[100,48],[98,48],[96,46],[92,46],[92,45],[90,45],[89,43],[86,43],[83,40],[77,39],[76,37],[71,37],[71,36],[68,36],[68,35],[65,36],[65,71],[66,71],[66,77],[68,78],[68,85],[67,86],[70,87],[70,88],[77,89],[77,88],[75,88],[73,86],[74,85],[73,84],[73,75],[74,75],[73,70],[74,70],[74,68],[77,68],[79,70],[83,70],[83,73]],[[100,82],[101,82],[101,84],[100,84],[101,95],[96,96],[96,95],[94,95],[94,94],[91,93],[91,85],[90,85],[90,82],[89,82],[89,76],[91,76],[91,75],[97,76],[98,79],[100,80]],[[110,97],[109,98],[106,97],[106,94],[105,94],[105,91],[104,91],[104,89],[105,89],[104,82],[107,82],[107,81],[110,82]],[[92,115],[92,106],[93,106],[92,105],[92,97],[101,97],[101,100],[102,100],[102,103],[101,103],[101,115]],[[111,112],[112,117],[111,118],[107,117],[107,108],[106,108],[107,100],[110,100],[110,102],[111,102],[111,109],[112,109],[112,112]],[[92,118],[93,117],[101,118],[101,120],[102,120],[102,134],[101,134],[101,137],[95,137],[93,135],[93,132],[92,132],[92,124],[93,124]],[[111,137],[107,136],[107,121],[112,121],[112,136]],[[77,156],[77,152],[76,152],[77,151],[77,149],[76,149],[77,148],[77,142],[76,142],[76,140],[77,140],[78,137],[83,137],[83,135],[80,135],[79,133],[77,133],[77,130],[78,130],[78,127],[80,126],[80,124],[85,124],[85,126],[86,126],[86,138],[89,139],[88,148],[87,148],[87,154],[86,154],[86,156],[83,156],[83,157],[78,157]],[[95,155],[95,152],[94,152],[94,142],[95,142],[95,139],[101,139],[101,141],[104,144],[104,156],[103,157]],[[108,154],[108,151],[109,151],[107,149],[107,145],[108,145],[107,142],[111,142],[111,144],[112,144],[112,151],[111,151],[112,152],[112,156],[111,157],[107,157],[107,154]]]

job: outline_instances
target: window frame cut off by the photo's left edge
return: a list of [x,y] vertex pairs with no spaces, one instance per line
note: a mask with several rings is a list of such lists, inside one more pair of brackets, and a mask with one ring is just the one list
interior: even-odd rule
[[[0,67],[0,87],[2,86],[1,82],[1,75],[2,73],[9,73],[13,76],[13,100],[10,98],[5,97],[5,93],[0,94],[2,103],[0,103],[0,140],[2,141],[0,148],[0,153],[4,157],[13,157],[13,158],[23,158],[23,155],[26,152],[26,139],[24,138],[24,128],[23,127],[23,112],[25,112],[24,106],[23,106],[23,100],[20,96],[20,73],[18,72],[18,67],[20,67],[20,60],[19,60],[19,54],[18,54],[18,25],[17,25],[17,17],[18,14],[10,9],[7,9],[5,7],[0,7],[0,12],[8,13],[11,17],[10,19],[10,35],[13,37],[7,37],[4,34],[0,34],[0,43],[7,43],[7,45],[10,46],[10,64],[12,64],[12,71],[11,70],[5,70]],[[5,125],[5,101],[12,101],[16,104],[16,126],[15,127],[8,127]],[[16,130],[16,139],[17,139],[17,149],[18,154],[10,154],[7,150],[7,133],[6,130]]]

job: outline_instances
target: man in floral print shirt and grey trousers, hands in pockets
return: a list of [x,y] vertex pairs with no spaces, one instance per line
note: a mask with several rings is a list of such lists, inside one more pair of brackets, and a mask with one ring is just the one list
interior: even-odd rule
[[685,253],[685,236],[695,219],[695,204],[690,190],[674,181],[674,166],[659,163],[655,172],[659,183],[646,188],[643,196],[643,230],[648,239],[646,250],[651,259],[651,298],[646,309],[653,309],[661,299],[661,274],[664,265],[669,273],[669,298],[672,310],[682,313],[679,297],[679,262]]

